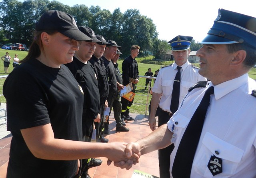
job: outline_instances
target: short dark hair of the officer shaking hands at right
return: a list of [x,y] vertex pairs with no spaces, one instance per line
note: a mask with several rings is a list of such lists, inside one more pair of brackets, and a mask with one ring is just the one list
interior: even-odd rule
[[250,46],[247,46],[243,43],[234,43],[227,44],[227,49],[229,53],[245,50],[246,58],[243,62],[245,67],[252,68],[256,64],[256,50],[254,48],[251,48]]

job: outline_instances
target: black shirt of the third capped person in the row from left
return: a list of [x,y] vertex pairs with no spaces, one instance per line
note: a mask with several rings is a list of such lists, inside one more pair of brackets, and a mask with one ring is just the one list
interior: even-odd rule
[[94,67],[96,74],[98,76],[98,88],[100,91],[100,103],[104,103],[108,97],[109,86],[108,86],[108,73],[102,58],[98,59],[96,56],[92,55],[89,62]]

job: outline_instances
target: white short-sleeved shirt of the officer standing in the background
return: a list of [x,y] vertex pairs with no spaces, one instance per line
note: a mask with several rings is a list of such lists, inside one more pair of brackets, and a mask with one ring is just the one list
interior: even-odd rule
[[[180,100],[183,100],[184,96],[188,93],[188,89],[193,86],[195,83],[199,81],[205,81],[206,78],[198,74],[198,68],[195,66],[191,66],[190,62],[186,62],[183,64],[182,69],[180,69],[181,77],[180,77]],[[156,77],[156,82],[152,88],[152,92],[162,94],[159,106],[162,110],[171,112],[170,105],[172,100],[172,88],[174,78],[176,73],[178,72],[177,64],[173,63],[170,66],[165,66],[160,69],[158,75]]]

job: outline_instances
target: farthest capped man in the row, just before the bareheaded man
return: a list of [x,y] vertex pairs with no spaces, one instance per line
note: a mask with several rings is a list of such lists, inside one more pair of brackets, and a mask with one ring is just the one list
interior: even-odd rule
[[[111,46],[107,46],[106,50],[102,56],[102,59],[104,61],[104,65],[108,71],[108,84],[110,86],[109,88],[109,94],[108,94],[108,107],[112,108],[113,101],[116,96],[117,89],[123,88],[122,84],[119,84],[116,81],[116,71],[114,68],[113,63],[111,62],[111,59],[114,58],[116,55],[117,49],[121,48],[121,46],[118,46],[115,41],[108,40],[108,42],[111,44]],[[128,132],[129,129],[122,125],[122,120],[119,118],[116,118],[116,132]],[[109,122],[106,122],[104,124],[104,133],[108,134],[108,125]]]

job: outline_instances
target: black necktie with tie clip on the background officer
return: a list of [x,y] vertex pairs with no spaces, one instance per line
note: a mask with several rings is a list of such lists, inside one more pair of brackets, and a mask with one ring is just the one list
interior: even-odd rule
[[170,110],[172,113],[176,112],[179,107],[180,100],[180,66],[177,66],[178,72],[174,78],[173,87],[172,87],[172,100]]

